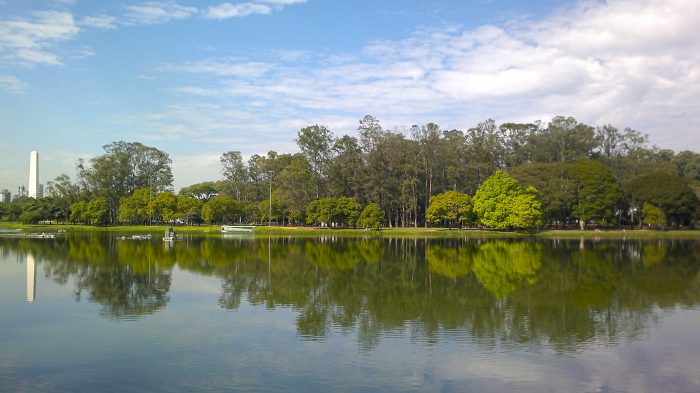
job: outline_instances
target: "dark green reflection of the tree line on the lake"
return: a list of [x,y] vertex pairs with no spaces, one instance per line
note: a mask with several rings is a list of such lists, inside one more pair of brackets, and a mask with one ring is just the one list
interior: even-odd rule
[[194,237],[160,242],[109,235],[55,242],[0,239],[31,252],[56,282],[104,314],[136,318],[167,306],[171,271],[221,279],[219,305],[297,312],[297,332],[355,331],[362,350],[387,334],[450,337],[486,347],[576,351],[643,332],[659,308],[700,300],[696,241],[513,241]]

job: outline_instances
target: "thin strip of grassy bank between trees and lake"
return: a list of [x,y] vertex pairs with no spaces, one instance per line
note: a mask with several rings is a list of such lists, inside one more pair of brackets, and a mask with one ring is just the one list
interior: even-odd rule
[[[100,231],[116,233],[163,233],[168,228],[166,225],[157,226],[107,226],[94,227],[87,225],[24,225],[19,223],[0,223],[0,229],[22,229],[27,232],[56,232],[66,230],[72,232]],[[217,225],[201,226],[178,226],[175,231],[178,233],[200,233],[217,234],[220,233]],[[534,234],[518,232],[501,232],[491,230],[473,229],[447,229],[447,228],[384,228],[381,231],[366,229],[319,229],[311,227],[268,227],[260,226],[255,228],[255,236],[299,236],[299,237],[420,237],[420,238],[518,238],[535,236],[545,239],[700,239],[700,231],[649,231],[649,230],[607,230],[607,231],[580,231],[580,230],[551,230],[541,231]]]

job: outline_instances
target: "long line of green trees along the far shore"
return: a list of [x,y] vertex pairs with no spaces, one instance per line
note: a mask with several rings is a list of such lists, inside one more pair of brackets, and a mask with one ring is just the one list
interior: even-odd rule
[[[113,142],[47,198],[2,206],[6,220],[87,224],[258,223],[363,227],[585,228],[694,226],[700,154],[573,117],[463,130],[388,130],[372,117],[357,136],[323,125],[297,133],[297,153],[221,155],[220,180],[176,195],[167,153]],[[214,176],[212,176],[214,177]],[[484,188],[486,186],[486,189]],[[369,209],[369,210],[367,210]],[[358,221],[360,223],[358,224]]]

